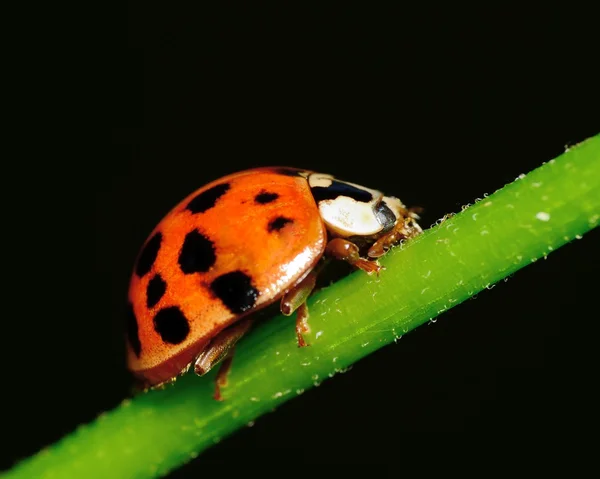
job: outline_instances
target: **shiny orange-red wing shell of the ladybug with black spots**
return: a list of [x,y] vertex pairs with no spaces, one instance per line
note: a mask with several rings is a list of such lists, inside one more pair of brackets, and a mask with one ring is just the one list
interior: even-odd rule
[[216,334],[301,281],[326,240],[300,170],[242,171],[190,194],[137,258],[129,369],[146,386],[175,377]]

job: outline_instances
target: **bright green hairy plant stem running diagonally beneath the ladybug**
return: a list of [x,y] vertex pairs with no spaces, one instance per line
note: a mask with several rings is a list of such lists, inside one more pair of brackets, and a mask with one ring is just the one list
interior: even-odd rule
[[214,372],[124,401],[24,460],[10,478],[151,478],[600,222],[600,135],[393,249],[309,301],[311,346],[278,316],[239,344],[225,401]]

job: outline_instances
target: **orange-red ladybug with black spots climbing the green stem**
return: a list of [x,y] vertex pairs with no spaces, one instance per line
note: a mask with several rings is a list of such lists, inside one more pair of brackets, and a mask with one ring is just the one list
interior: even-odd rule
[[129,285],[127,362],[142,389],[222,362],[215,399],[253,313],[275,301],[309,332],[306,299],[328,258],[379,274],[376,258],[422,232],[417,209],[331,175],[241,171],[182,200],[152,231]]

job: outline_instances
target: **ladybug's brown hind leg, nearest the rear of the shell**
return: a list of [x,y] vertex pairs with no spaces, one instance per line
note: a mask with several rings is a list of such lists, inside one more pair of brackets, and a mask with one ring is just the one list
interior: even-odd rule
[[227,373],[231,369],[235,344],[250,329],[251,319],[236,323],[217,334],[206,348],[196,358],[194,372],[204,376],[219,362],[223,361],[215,380],[215,395],[217,401],[222,400],[221,388],[227,385]]

